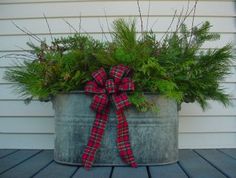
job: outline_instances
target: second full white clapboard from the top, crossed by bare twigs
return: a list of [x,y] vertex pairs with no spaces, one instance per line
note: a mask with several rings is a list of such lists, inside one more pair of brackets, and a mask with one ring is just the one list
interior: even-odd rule
[[[47,19],[50,30],[52,33],[56,34],[63,34],[63,33],[70,33],[74,32],[74,30],[70,27],[73,26],[74,28],[79,30],[80,21],[81,21],[81,32],[87,33],[94,33],[98,32],[100,28],[103,28],[104,32],[109,32],[111,30],[108,24],[112,24],[112,22],[116,19],[116,17],[94,17],[94,18],[64,18],[64,19]],[[126,18],[132,19],[132,18]],[[137,27],[140,27],[140,23],[138,18],[135,18],[137,21]],[[153,32],[165,32],[166,29],[169,27],[170,22],[172,20],[171,17],[158,17],[158,16],[151,16],[151,17],[143,17],[143,25],[146,27],[148,19],[148,27],[152,27]],[[203,21],[210,21],[212,24],[211,31],[212,32],[221,32],[221,33],[232,33],[235,29],[234,18],[228,17],[224,20],[224,25],[222,26],[222,18],[221,17],[195,17],[194,21],[196,24],[200,24]],[[173,29],[170,31],[175,30],[177,25],[177,19],[173,22]],[[68,25],[68,23],[70,25]],[[192,18],[186,20],[186,25],[191,25]],[[30,24],[30,26],[28,25]],[[162,24],[161,26],[159,24]],[[29,19],[29,20],[2,20],[0,21],[0,35],[25,35],[24,32],[20,31],[16,28],[15,25],[19,27],[27,27],[33,34],[49,34],[49,30],[47,27],[47,23],[45,19]],[[101,26],[101,27],[100,27]],[[140,28],[138,28],[140,31]]]

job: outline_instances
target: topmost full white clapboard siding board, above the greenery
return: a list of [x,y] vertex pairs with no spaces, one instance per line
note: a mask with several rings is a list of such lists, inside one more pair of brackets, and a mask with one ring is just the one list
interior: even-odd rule
[[[18,1],[19,2],[19,1]],[[38,0],[40,2],[40,0]],[[181,11],[187,8],[186,1],[151,1],[150,14],[167,16],[173,15],[175,10]],[[148,12],[148,1],[140,1],[143,14]],[[190,6],[192,7],[192,1]],[[86,17],[104,17],[104,11],[110,16],[138,15],[137,3],[132,1],[62,1],[55,3],[15,3],[2,4],[0,17],[2,19],[40,18],[43,14],[47,17],[75,17],[78,15]],[[19,13],[21,12],[21,13]],[[63,14],[62,14],[63,12]],[[199,1],[197,16],[234,16],[234,1]]]

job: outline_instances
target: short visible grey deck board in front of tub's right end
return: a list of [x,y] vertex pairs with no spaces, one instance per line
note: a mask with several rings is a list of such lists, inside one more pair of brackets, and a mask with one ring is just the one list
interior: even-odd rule
[[177,163],[163,166],[150,166],[152,178],[188,178]]

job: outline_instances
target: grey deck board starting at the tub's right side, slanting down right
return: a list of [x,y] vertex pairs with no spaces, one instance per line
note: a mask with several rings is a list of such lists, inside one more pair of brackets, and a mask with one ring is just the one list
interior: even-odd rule
[[179,163],[190,177],[225,178],[221,172],[192,150],[180,150]]

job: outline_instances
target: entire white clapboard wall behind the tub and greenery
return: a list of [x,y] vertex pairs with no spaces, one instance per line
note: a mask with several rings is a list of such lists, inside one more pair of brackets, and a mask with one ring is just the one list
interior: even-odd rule
[[[187,1],[150,1],[149,26],[161,37],[169,26],[172,15],[184,7]],[[190,2],[190,8],[194,2]],[[140,1],[143,20],[146,23],[149,1]],[[44,19],[47,17],[53,36],[74,33],[65,23],[68,21],[82,33],[89,33],[99,39],[109,38],[107,23],[118,17],[139,18],[135,0],[0,0],[0,56],[27,50],[28,35],[17,29],[12,22],[28,29],[42,39],[50,40],[50,33]],[[236,44],[236,3],[233,0],[200,0],[195,24],[208,20],[212,32],[221,33],[221,40],[208,43],[204,48],[218,48],[228,42]],[[64,21],[64,20],[65,21]],[[81,20],[80,20],[81,19]],[[189,19],[191,23],[191,18]],[[144,24],[144,27],[146,25]],[[53,148],[54,118],[50,103],[33,101],[25,105],[9,82],[2,79],[13,59],[0,59],[0,148]],[[236,63],[231,67],[232,75],[222,85],[232,95],[233,105],[224,108],[210,102],[210,108],[203,112],[196,104],[183,104],[180,112],[180,148],[236,148]]]

